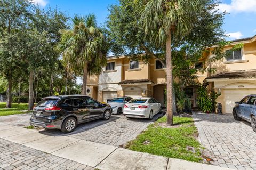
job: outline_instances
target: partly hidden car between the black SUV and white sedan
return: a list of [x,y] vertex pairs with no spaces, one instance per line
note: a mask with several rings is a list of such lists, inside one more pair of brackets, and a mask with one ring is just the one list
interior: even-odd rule
[[129,102],[132,98],[123,97],[123,98],[114,98],[108,102],[112,108],[113,114],[121,114],[123,112],[124,104]]

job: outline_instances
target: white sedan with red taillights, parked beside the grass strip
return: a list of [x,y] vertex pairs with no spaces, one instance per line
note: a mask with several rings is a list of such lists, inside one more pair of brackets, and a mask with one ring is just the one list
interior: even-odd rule
[[124,104],[124,116],[153,119],[161,111],[161,103],[154,98],[132,99]]

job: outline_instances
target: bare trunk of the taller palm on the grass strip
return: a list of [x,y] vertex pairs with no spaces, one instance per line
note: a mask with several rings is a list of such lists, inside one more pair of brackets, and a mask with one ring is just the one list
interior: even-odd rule
[[173,124],[171,30],[166,39],[167,124]]

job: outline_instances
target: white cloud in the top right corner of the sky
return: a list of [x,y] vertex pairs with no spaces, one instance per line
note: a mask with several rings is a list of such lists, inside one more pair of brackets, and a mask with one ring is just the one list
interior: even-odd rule
[[231,0],[231,4],[220,4],[220,11],[224,12],[255,12],[256,13],[256,1],[255,0]]

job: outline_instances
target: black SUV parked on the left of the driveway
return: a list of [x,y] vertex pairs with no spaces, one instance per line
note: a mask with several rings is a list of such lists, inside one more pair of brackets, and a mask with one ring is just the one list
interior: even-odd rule
[[43,98],[33,108],[30,125],[73,132],[77,124],[100,119],[108,120],[112,109],[85,95],[62,95]]

